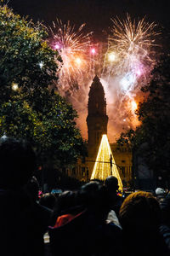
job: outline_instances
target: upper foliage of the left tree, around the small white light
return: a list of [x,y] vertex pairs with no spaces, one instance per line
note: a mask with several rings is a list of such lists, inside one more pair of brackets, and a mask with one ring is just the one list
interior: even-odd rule
[[0,86],[2,101],[12,94],[13,84],[25,92],[47,87],[56,79],[56,52],[45,41],[47,32],[40,23],[14,15],[0,6]]

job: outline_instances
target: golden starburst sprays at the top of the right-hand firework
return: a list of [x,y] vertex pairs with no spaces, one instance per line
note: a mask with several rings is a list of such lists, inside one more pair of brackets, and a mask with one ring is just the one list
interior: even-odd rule
[[146,22],[145,18],[139,21],[131,20],[129,15],[126,20],[117,18],[112,21],[108,54],[115,54],[115,61],[119,62],[118,68],[121,67],[120,71],[132,71],[136,64],[137,68],[142,64],[152,64],[155,60],[150,57],[151,48],[156,46],[156,35],[159,34],[156,32],[156,23]]

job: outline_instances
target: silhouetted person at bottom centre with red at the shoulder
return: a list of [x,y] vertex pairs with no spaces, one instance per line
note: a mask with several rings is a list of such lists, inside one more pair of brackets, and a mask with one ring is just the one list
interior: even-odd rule
[[122,230],[105,221],[110,211],[105,187],[96,182],[87,183],[77,195],[75,205],[79,206],[79,212],[73,214],[68,210],[69,214],[59,217],[57,227],[49,230],[53,254],[121,255]]

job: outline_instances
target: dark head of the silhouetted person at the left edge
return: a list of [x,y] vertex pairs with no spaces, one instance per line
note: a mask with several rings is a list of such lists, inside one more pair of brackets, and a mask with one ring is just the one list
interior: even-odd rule
[[36,168],[36,156],[26,141],[0,139],[0,188],[20,189]]

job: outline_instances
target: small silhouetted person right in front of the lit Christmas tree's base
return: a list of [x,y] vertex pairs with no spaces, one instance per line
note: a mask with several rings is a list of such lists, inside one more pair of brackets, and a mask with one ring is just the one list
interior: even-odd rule
[[123,202],[122,196],[117,195],[119,189],[118,179],[115,176],[106,177],[105,187],[108,192],[111,210],[114,210],[116,212],[116,216],[118,217],[119,210]]

